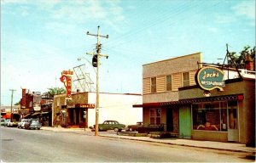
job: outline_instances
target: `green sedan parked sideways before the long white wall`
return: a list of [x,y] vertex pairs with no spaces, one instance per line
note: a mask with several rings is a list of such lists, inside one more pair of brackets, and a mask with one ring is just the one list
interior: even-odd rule
[[99,124],[99,131],[114,130],[115,132],[121,132],[123,129],[125,129],[125,125],[120,124],[118,121],[104,121]]

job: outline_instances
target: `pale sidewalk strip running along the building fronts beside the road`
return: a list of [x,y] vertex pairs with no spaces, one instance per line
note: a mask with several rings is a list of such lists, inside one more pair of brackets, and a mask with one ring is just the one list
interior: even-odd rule
[[[86,128],[62,128],[62,127],[50,127],[43,126],[42,130],[48,130],[53,132],[73,132],[83,135],[94,136],[94,132],[91,132],[90,129]],[[253,153],[255,155],[255,148],[246,147],[245,144],[241,143],[223,143],[223,142],[213,142],[213,141],[201,141],[201,140],[191,140],[191,139],[183,139],[183,138],[149,138],[149,137],[132,137],[125,135],[117,135],[116,132],[99,132],[100,137],[108,137],[108,138],[122,138],[136,141],[144,141],[144,142],[154,142],[154,143],[166,143],[172,145],[180,145],[180,146],[188,146],[188,147],[196,147],[203,149],[218,149],[218,150],[226,150],[233,152],[246,152]]]

